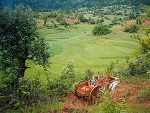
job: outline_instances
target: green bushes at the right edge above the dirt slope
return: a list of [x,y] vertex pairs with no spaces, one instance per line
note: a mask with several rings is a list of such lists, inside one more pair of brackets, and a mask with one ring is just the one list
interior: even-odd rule
[[138,55],[135,61],[128,61],[128,67],[120,69],[118,71],[119,75],[144,75],[149,77],[150,72],[150,39],[149,36],[140,38],[138,35],[134,34],[136,41],[142,46],[142,54]]

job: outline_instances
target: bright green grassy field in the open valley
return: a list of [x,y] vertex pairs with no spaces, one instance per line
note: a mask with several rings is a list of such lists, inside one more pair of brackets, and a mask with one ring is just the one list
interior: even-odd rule
[[[66,27],[48,28],[42,27],[42,21],[38,32],[45,36],[51,45],[53,57],[48,69],[51,78],[59,75],[61,69],[68,60],[75,63],[77,72],[82,73],[87,68],[95,72],[103,72],[111,62],[117,66],[126,64],[126,59],[132,59],[140,50],[140,45],[131,37],[132,34],[123,32],[123,26],[116,25],[110,28],[112,33],[103,36],[94,36],[94,25],[77,24]],[[39,66],[33,66],[26,71],[26,75],[39,73],[45,80],[43,70]]]

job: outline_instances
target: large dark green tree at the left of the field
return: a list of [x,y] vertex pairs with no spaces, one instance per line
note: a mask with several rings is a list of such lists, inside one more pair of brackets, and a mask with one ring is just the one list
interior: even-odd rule
[[20,5],[12,11],[2,11],[0,21],[0,70],[14,86],[29,68],[27,61],[46,66],[50,51],[36,32],[30,8]]

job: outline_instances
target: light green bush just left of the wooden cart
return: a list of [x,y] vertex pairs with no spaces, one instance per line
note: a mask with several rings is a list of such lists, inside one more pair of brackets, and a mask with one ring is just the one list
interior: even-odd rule
[[69,60],[67,65],[62,69],[60,76],[55,78],[53,82],[49,82],[49,89],[53,96],[66,95],[71,91],[72,85],[76,80],[74,68],[74,63]]

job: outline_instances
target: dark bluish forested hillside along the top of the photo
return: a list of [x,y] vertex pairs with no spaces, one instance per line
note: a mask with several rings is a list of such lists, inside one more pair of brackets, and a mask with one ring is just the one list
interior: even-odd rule
[[76,9],[108,5],[150,5],[150,0],[1,0],[1,7],[13,8],[18,4],[30,6],[36,11]]

